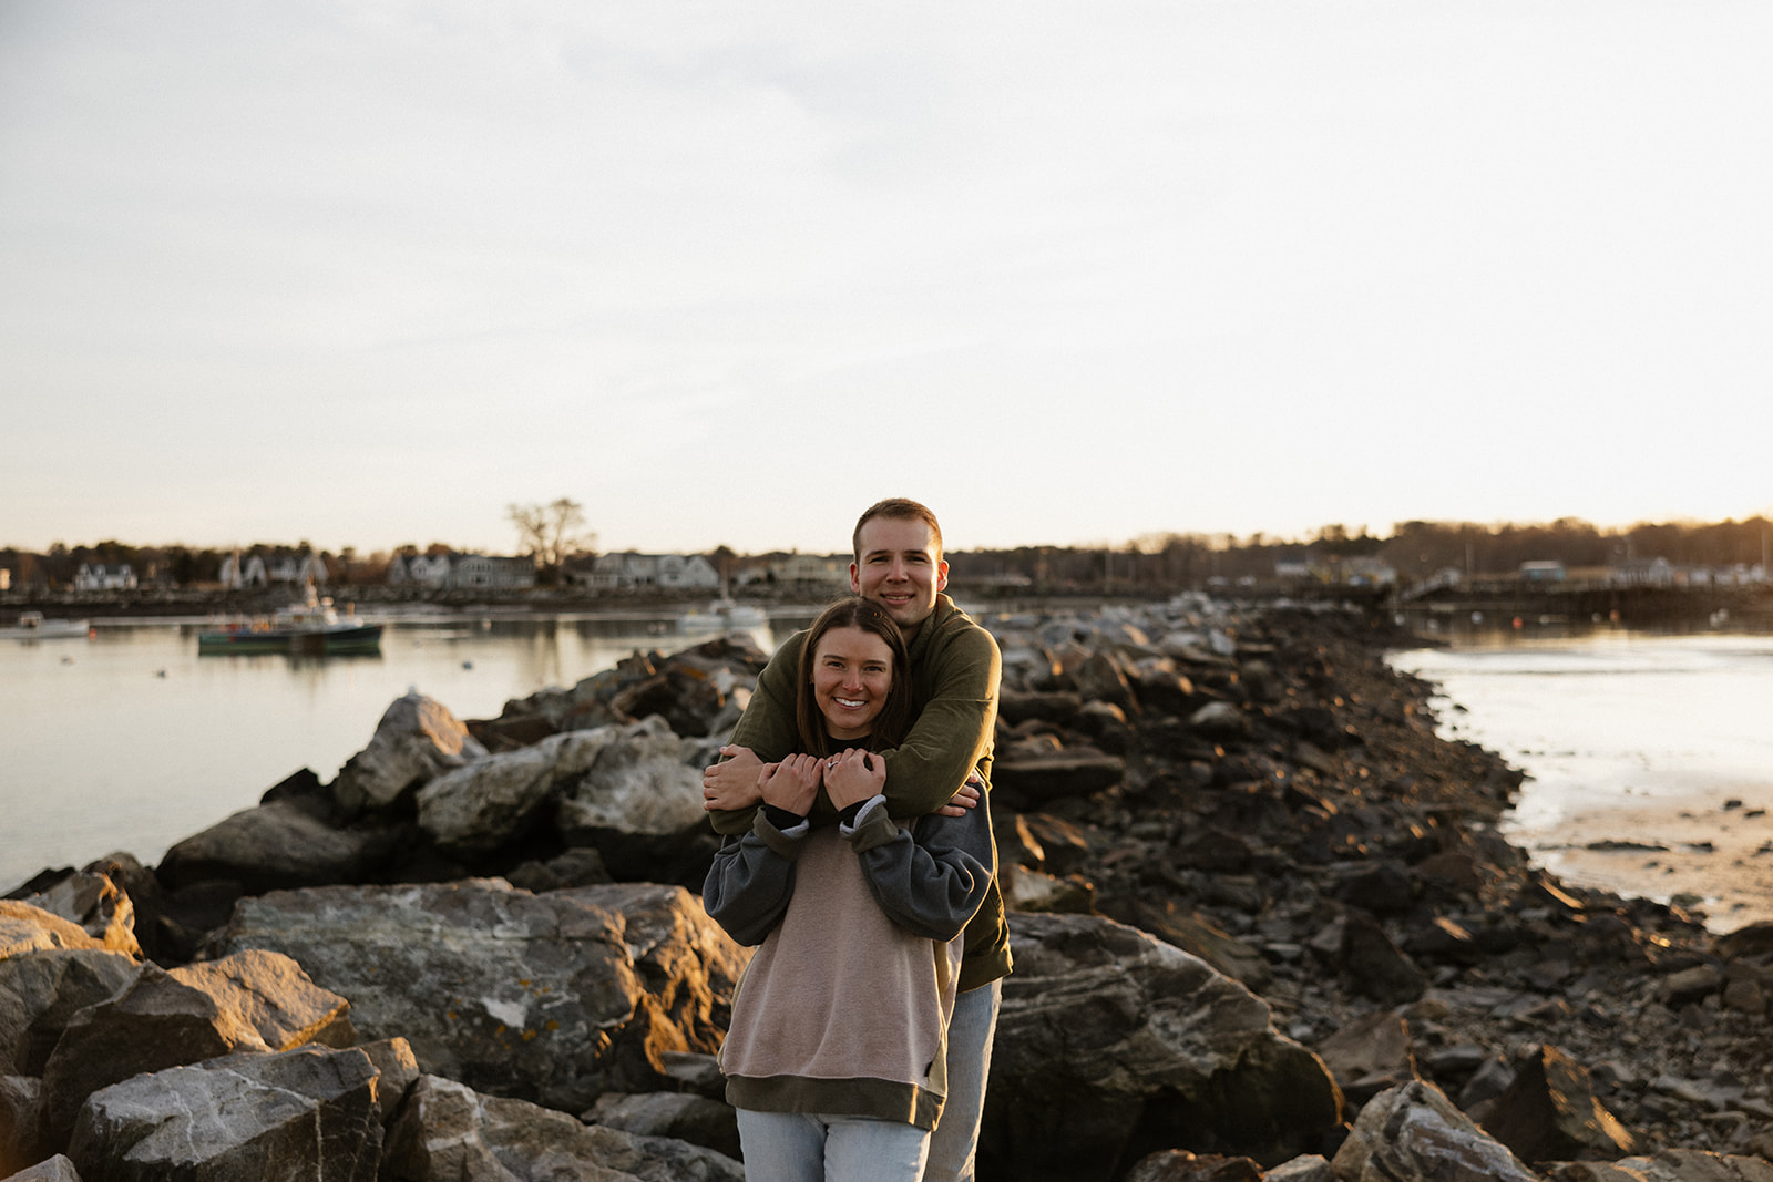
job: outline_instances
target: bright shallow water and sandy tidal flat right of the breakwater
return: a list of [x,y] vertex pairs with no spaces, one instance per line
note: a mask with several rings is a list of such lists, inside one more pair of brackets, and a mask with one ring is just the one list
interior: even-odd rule
[[1697,897],[1716,930],[1773,920],[1773,638],[1491,634],[1392,665],[1440,686],[1443,734],[1528,773],[1504,831],[1539,865]]

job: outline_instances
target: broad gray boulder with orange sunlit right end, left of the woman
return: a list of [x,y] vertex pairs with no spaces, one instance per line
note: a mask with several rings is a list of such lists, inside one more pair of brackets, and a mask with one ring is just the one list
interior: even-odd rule
[[688,891],[629,886],[608,897],[624,914],[598,890],[275,891],[243,898],[222,945],[294,957],[351,998],[358,1031],[408,1038],[426,1072],[576,1113],[601,1092],[672,1086],[668,1051],[718,1049],[745,964]]

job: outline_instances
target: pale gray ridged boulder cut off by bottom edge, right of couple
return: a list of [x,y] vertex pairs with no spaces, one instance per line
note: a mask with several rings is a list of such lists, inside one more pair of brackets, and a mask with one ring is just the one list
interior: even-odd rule
[[1372,1097],[1330,1168],[1337,1182],[1539,1182],[1505,1145],[1420,1079]]

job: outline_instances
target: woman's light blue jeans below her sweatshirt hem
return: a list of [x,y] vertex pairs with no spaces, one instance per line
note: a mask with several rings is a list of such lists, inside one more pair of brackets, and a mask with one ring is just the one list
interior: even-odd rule
[[755,1182],[917,1182],[929,1132],[902,1120],[739,1113],[745,1177]]

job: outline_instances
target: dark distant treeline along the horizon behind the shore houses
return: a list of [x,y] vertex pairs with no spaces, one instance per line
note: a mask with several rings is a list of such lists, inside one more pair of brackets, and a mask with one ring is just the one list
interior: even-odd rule
[[[312,553],[309,542],[241,546],[238,553],[273,558],[300,558]],[[1328,525],[1308,540],[1278,540],[1261,533],[1232,535],[1161,533],[1119,546],[1019,546],[1014,549],[972,549],[949,555],[950,576],[957,585],[1002,587],[1030,592],[1066,590],[1184,590],[1215,579],[1273,581],[1277,567],[1333,564],[1349,558],[1383,562],[1397,571],[1402,583],[1425,579],[1438,571],[1457,569],[1468,578],[1511,576],[1525,562],[1562,562],[1571,571],[1617,567],[1631,560],[1665,558],[1675,567],[1768,565],[1773,549],[1773,523],[1766,517],[1720,523],[1635,525],[1624,530],[1599,530],[1587,521],[1560,517],[1550,525],[1477,525],[1464,521],[1402,521],[1390,537],[1374,537],[1362,526]],[[449,553],[443,542],[427,548],[401,546],[392,553],[358,555],[355,548],[339,553],[319,551],[333,583],[381,583],[394,555]],[[92,546],[55,544],[48,553],[16,548],[0,549],[0,569],[11,572],[14,590],[30,587],[66,588],[82,565],[115,567],[128,564],[142,587],[193,587],[215,583],[225,558],[236,548],[131,546],[106,540]],[[771,555],[734,555],[727,548],[711,553],[722,569],[764,560]],[[587,562],[578,555],[567,565]]]

